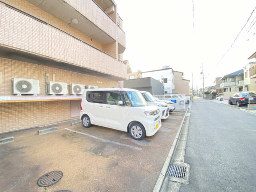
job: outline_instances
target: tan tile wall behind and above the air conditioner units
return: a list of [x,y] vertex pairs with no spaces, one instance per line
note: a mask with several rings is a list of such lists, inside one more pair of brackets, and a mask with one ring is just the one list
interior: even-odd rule
[[46,73],[49,74],[48,81],[52,81],[52,74],[55,74],[57,82],[95,85],[99,88],[118,87],[118,82],[114,80],[6,58],[0,58],[0,71],[2,72],[0,95],[12,95],[13,77],[38,79],[41,88],[40,95],[45,95]]

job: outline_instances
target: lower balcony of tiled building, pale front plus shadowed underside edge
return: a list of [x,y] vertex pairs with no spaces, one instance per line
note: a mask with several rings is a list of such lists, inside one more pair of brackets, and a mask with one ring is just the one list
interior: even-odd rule
[[4,4],[0,4],[0,15],[0,56],[33,58],[30,62],[126,79],[126,64],[67,32]]

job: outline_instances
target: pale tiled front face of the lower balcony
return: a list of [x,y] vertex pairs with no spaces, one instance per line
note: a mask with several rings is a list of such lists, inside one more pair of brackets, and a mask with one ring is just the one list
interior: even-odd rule
[[0,4],[0,44],[126,78],[126,65],[71,36]]

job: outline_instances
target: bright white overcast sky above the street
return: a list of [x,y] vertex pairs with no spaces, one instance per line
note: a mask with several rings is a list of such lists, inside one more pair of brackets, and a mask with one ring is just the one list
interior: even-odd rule
[[[242,69],[256,52],[256,0],[115,0],[123,19],[126,50],[132,71],[170,65],[184,72],[192,86],[214,85],[215,77]],[[232,48],[236,36],[240,32]],[[222,58],[222,59],[221,59]],[[220,62],[219,62],[220,61]]]

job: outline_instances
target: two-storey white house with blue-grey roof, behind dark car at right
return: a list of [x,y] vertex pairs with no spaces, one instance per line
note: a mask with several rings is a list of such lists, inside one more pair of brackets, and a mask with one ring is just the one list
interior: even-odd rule
[[224,98],[228,98],[237,92],[244,92],[247,90],[247,86],[244,86],[244,70],[238,70],[236,72],[223,76],[220,80],[223,82],[220,84]]

